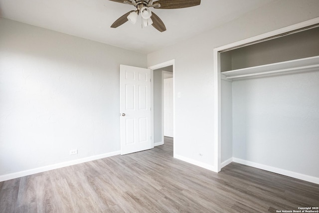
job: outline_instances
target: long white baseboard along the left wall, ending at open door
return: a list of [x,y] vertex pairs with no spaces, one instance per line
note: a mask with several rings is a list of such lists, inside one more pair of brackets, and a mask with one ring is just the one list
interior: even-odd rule
[[67,166],[81,164],[81,163],[85,163],[85,162],[89,162],[89,161],[94,161],[94,160],[98,160],[98,159],[102,159],[102,158],[107,158],[107,157],[111,157],[111,156],[115,156],[115,155],[120,155],[120,154],[121,154],[121,151],[110,152],[110,153],[105,153],[105,154],[101,154],[101,155],[90,156],[87,158],[81,158],[81,159],[76,159],[76,160],[72,160],[72,161],[67,161],[67,162],[62,162],[62,163],[58,163],[58,164],[39,167],[39,168],[35,168],[35,169],[11,173],[11,174],[7,174],[7,175],[1,175],[0,182],[15,179],[15,178],[21,178],[21,177],[24,177],[27,175],[33,175],[36,173],[46,172],[49,170],[54,170],[54,169],[59,169],[59,168],[67,167]]

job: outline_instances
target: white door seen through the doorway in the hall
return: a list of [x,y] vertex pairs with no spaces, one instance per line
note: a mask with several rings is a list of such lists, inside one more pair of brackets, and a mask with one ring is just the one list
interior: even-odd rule
[[173,137],[173,78],[164,79],[164,136]]

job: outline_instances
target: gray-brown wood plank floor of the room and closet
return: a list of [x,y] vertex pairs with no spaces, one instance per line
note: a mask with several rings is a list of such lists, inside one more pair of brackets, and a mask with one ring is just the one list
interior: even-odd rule
[[218,174],[172,158],[172,139],[0,182],[0,213],[276,213],[319,206],[319,185],[236,163]]

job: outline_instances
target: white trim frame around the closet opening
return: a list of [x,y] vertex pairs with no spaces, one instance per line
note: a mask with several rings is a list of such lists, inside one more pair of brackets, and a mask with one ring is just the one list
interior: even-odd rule
[[[221,70],[220,70],[220,52],[224,50],[229,50],[237,47],[247,46],[253,43],[262,42],[265,40],[274,39],[275,36],[288,33],[294,30],[302,29],[304,27],[312,26],[319,23],[319,17],[313,18],[307,21],[303,21],[297,24],[293,24],[287,27],[276,29],[270,32],[266,32],[260,35],[256,35],[247,39],[236,41],[234,43],[226,44],[213,49],[213,83],[214,83],[214,165],[215,172],[220,172],[221,166],[226,166],[227,164],[222,164],[221,162]],[[217,142],[217,143],[216,143]],[[231,162],[228,162],[231,163]]]

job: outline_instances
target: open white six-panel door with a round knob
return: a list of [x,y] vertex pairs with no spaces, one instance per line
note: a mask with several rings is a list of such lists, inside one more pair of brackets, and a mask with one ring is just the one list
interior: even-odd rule
[[152,148],[151,70],[120,66],[121,155]]

